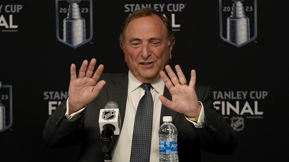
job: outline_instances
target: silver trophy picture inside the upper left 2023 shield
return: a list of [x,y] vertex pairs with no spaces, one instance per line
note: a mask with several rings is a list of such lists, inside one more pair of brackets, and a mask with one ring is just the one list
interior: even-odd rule
[[81,0],[67,0],[69,4],[67,17],[63,19],[63,41],[76,46],[85,41],[85,19],[80,15],[77,3]]

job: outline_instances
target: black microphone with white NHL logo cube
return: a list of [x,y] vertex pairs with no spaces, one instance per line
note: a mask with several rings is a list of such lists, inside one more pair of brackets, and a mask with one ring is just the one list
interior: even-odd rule
[[109,101],[99,113],[101,151],[109,152],[114,135],[120,134],[120,112],[114,101]]

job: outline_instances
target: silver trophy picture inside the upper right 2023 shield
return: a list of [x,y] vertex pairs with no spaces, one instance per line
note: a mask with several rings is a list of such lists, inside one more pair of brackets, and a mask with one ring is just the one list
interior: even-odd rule
[[232,1],[231,16],[227,18],[227,40],[239,45],[250,39],[250,24],[241,3],[244,0]]

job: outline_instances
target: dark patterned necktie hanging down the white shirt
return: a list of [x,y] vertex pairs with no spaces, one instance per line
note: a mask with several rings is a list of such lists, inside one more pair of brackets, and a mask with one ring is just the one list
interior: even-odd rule
[[149,162],[151,153],[151,130],[153,126],[154,101],[151,84],[142,83],[144,95],[138,103],[132,136],[131,162]]

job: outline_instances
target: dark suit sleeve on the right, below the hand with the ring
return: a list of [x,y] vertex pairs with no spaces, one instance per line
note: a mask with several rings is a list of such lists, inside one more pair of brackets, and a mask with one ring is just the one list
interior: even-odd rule
[[198,96],[204,105],[205,126],[196,128],[192,125],[200,139],[203,151],[215,154],[231,154],[237,146],[237,137],[233,128],[216,112],[213,105],[212,87],[208,86],[205,94]]

